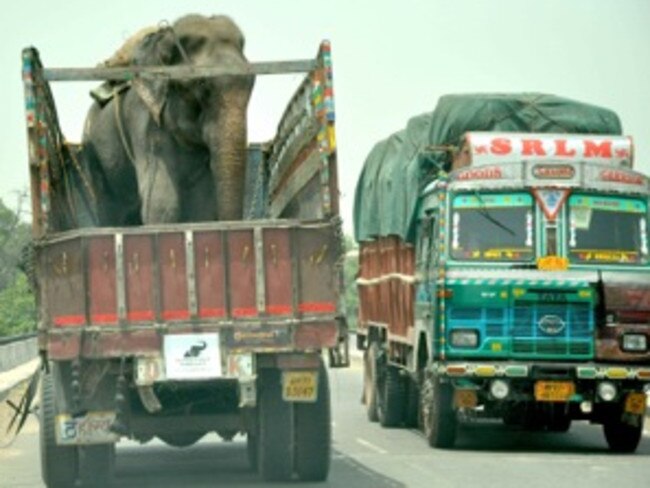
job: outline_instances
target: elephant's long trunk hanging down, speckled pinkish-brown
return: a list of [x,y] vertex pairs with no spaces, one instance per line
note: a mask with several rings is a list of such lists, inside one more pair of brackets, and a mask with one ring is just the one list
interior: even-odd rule
[[217,120],[206,134],[218,220],[243,218],[249,96],[248,90],[240,88],[222,92]]

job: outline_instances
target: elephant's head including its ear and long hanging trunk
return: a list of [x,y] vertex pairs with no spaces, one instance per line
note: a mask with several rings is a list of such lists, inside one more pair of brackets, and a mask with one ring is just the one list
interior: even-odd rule
[[[247,72],[243,49],[244,37],[230,18],[187,15],[146,35],[134,48],[133,64],[218,65]],[[242,218],[247,108],[253,84],[252,74],[188,80],[140,77],[133,83],[155,124],[185,154],[194,148],[200,159],[207,150],[214,188],[210,196],[214,195],[218,220]],[[146,214],[143,202],[145,223],[152,220]]]

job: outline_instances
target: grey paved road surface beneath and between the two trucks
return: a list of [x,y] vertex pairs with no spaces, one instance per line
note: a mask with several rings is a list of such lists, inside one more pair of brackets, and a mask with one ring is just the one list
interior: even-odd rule
[[[361,369],[332,371],[334,452],[323,487],[639,488],[650,483],[650,433],[634,455],[607,451],[600,427],[574,424],[567,434],[527,434],[497,423],[461,429],[453,450],[430,449],[414,430],[382,429],[359,403]],[[207,436],[189,449],[122,442],[116,486],[124,488],[263,486],[248,469],[245,442]],[[0,449],[0,487],[42,487],[38,423]],[[275,484],[274,486],[282,486]],[[287,486],[299,487],[300,483]]]

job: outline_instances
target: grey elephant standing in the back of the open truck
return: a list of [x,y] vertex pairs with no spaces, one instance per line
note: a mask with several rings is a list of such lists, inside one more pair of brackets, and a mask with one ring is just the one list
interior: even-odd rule
[[[244,75],[107,82],[84,125],[83,157],[101,226],[239,220],[247,108],[255,78],[226,16],[143,29],[105,66],[224,66]],[[110,93],[106,96],[106,88]]]

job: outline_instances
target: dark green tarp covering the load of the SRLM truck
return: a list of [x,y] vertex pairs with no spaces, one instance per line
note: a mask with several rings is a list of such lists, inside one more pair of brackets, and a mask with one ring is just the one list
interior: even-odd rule
[[406,128],[368,154],[354,198],[357,242],[397,235],[412,241],[421,190],[448,169],[448,152],[468,131],[621,134],[611,110],[540,93],[446,95],[433,112],[412,117]]

